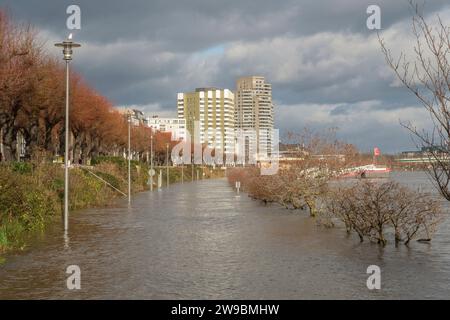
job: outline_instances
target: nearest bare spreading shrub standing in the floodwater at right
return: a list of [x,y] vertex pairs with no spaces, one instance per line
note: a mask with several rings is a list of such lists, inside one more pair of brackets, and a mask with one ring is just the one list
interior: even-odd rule
[[361,242],[367,238],[385,245],[389,233],[395,243],[430,241],[442,220],[440,204],[430,194],[393,181],[340,185],[330,190],[324,203],[321,222],[331,226],[338,219]]

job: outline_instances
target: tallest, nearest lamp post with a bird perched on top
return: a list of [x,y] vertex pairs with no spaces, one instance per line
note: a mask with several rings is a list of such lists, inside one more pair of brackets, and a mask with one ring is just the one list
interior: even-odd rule
[[63,59],[66,61],[66,123],[64,146],[64,231],[69,230],[69,63],[72,60],[73,48],[81,47],[81,44],[72,41],[72,34],[61,42],[55,43],[55,47],[63,48]]

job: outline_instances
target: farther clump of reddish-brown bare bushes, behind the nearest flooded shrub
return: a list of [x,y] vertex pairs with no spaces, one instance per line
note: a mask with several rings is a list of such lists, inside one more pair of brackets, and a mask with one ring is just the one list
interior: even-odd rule
[[259,175],[257,169],[235,169],[229,172],[228,179],[231,183],[241,181],[253,198],[286,208],[307,208],[315,216],[329,180],[343,168],[360,165],[363,158],[355,146],[336,138],[336,129],[322,133],[305,129],[289,133],[287,140],[297,146],[289,153],[298,160],[280,163],[276,175]]

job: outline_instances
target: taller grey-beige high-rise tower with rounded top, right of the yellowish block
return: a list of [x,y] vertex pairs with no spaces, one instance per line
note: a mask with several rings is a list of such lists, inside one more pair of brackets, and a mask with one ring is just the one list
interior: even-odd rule
[[249,76],[239,78],[235,93],[235,124],[236,129],[243,132],[254,132],[256,141],[247,141],[245,152],[249,157],[250,147],[256,143],[257,158],[270,154],[273,148],[273,103],[272,85],[264,77]]

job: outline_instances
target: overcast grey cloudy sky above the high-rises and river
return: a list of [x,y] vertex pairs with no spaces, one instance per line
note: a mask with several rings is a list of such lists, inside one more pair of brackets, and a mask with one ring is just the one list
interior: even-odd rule
[[[82,11],[74,67],[117,106],[175,116],[177,92],[234,89],[239,76],[263,75],[281,136],[337,127],[364,151],[393,153],[415,146],[400,121],[429,126],[366,27],[367,7],[379,5],[382,36],[394,52],[408,52],[407,0],[0,0],[38,27],[55,54],[70,4]],[[449,21],[450,3],[428,0],[424,12]]]

